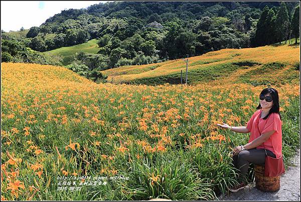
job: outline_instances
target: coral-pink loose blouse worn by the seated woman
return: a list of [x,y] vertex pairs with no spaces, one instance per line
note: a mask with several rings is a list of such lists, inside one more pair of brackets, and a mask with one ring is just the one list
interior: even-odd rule
[[280,120],[280,116],[278,113],[271,113],[268,118],[264,120],[260,118],[261,112],[262,110],[257,110],[247,123],[247,128],[251,132],[249,142],[253,141],[263,133],[274,130],[275,132],[256,148],[268,149],[278,158],[282,152],[282,122]]

